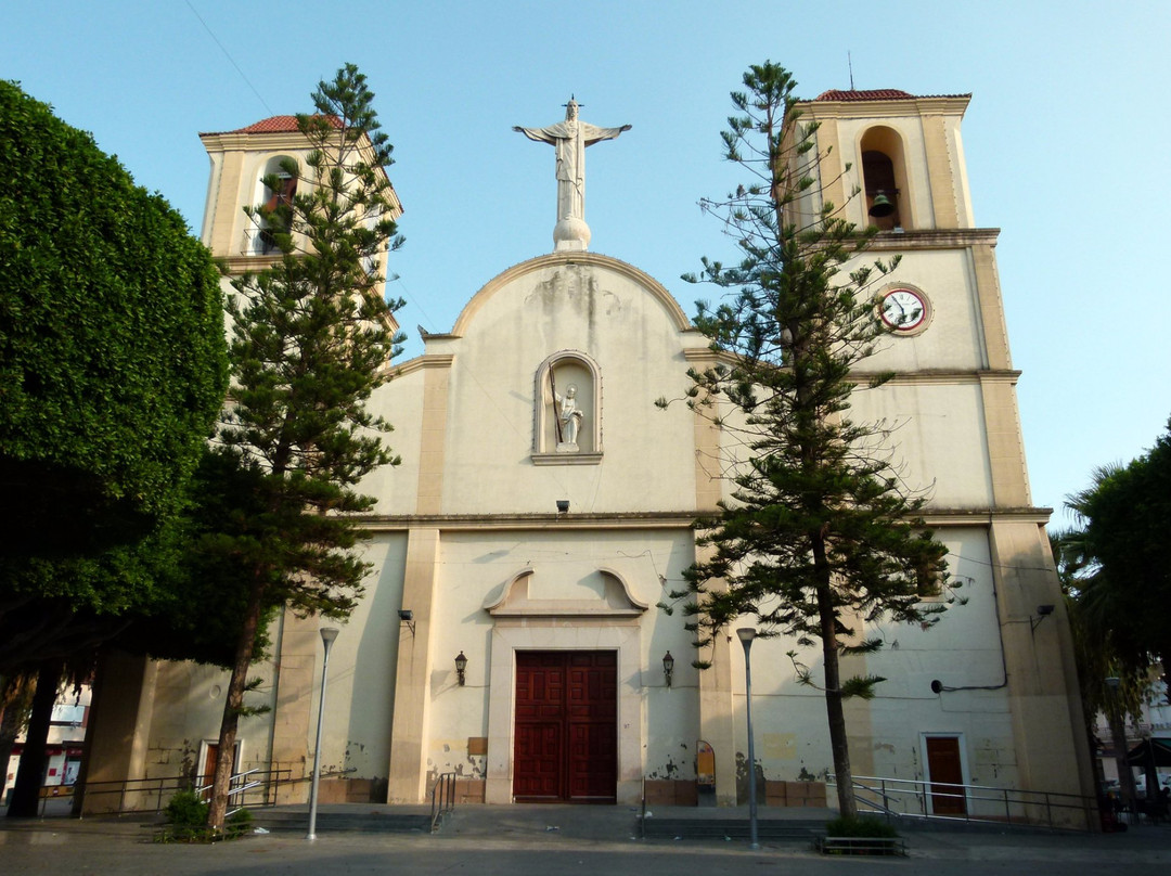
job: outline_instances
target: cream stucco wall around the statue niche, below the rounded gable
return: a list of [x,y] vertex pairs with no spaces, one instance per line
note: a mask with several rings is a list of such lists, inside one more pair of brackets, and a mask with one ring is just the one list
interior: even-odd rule
[[[687,386],[678,319],[662,299],[631,271],[596,264],[542,267],[489,286],[492,293],[481,293],[461,317],[463,337],[436,345],[454,354],[444,512],[548,513],[557,499],[586,513],[693,507],[691,413],[653,404]],[[601,416],[601,464],[529,463],[535,376],[559,351],[584,353],[600,369],[602,410],[583,399],[583,430]],[[392,383],[379,396],[386,416],[403,423],[410,409],[402,401],[405,384]],[[409,479],[408,471],[400,474]],[[391,505],[386,499],[379,509]]]

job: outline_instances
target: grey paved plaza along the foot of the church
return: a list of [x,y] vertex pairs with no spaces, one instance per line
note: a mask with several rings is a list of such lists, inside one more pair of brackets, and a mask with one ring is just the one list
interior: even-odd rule
[[[326,807],[323,814],[369,808]],[[687,810],[655,816],[682,812]],[[319,822],[314,842],[303,831],[280,830],[214,846],[155,842],[152,817],[0,819],[0,874],[1132,876],[1171,871],[1171,827],[1165,824],[1098,835],[909,830],[904,833],[908,857],[847,858],[823,857],[796,842],[765,841],[753,851],[742,840],[643,840],[636,816],[623,807],[464,807],[434,835],[330,831],[327,819]]]

